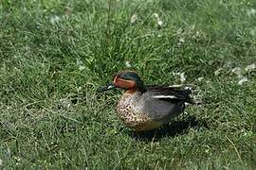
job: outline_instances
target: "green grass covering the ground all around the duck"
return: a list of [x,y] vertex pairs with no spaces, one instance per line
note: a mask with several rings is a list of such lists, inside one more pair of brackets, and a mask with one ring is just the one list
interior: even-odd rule
[[[256,62],[252,8],[253,0],[2,0],[0,169],[254,169],[256,74],[244,70],[238,85],[231,72]],[[184,72],[204,104],[155,137],[136,134],[116,115],[120,92],[96,93],[124,69],[146,84],[180,83]]]

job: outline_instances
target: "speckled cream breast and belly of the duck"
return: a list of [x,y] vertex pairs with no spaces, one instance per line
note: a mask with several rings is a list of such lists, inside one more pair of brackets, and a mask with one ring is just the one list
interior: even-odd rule
[[137,131],[147,131],[160,127],[162,123],[152,120],[143,111],[143,102],[139,99],[139,93],[124,93],[117,107],[119,118],[127,127]]

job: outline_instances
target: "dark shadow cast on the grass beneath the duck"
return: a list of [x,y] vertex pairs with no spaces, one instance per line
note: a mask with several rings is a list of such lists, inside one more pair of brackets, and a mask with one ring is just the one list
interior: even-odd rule
[[131,136],[139,141],[152,142],[158,141],[164,137],[174,137],[180,134],[186,134],[190,128],[209,128],[206,121],[196,119],[195,116],[186,116],[182,120],[172,121],[170,124],[164,125],[159,129],[146,132],[131,132]]

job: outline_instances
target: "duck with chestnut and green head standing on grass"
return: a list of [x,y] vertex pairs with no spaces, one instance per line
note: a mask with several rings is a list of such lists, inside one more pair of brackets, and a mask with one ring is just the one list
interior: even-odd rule
[[124,90],[117,105],[119,119],[137,132],[159,128],[181,114],[187,104],[196,104],[192,86],[145,86],[136,71],[115,74],[113,81],[97,92],[116,88]]

